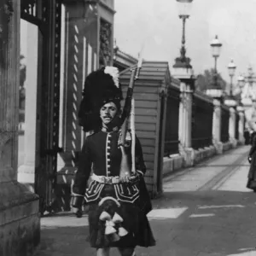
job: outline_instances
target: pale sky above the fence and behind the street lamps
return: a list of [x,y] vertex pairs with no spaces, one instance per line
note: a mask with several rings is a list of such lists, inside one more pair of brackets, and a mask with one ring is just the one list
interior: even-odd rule
[[[115,0],[114,38],[119,49],[147,61],[172,65],[181,47],[182,20],[176,0]],[[223,44],[218,72],[230,81],[228,64],[236,63],[236,78],[256,73],[256,0],[194,0],[186,22],[187,56],[195,74],[213,67],[210,43],[215,35]]]

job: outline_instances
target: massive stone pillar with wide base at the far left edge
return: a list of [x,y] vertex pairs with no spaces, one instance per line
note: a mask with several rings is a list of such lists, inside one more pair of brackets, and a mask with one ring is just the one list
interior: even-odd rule
[[0,3],[0,22],[0,255],[19,256],[40,239],[38,196],[17,182],[20,0]]

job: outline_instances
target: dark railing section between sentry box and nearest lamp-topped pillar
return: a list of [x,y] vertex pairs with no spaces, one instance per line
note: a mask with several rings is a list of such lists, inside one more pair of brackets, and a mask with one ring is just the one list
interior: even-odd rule
[[165,156],[178,153],[178,114],[180,91],[169,87],[166,100]]

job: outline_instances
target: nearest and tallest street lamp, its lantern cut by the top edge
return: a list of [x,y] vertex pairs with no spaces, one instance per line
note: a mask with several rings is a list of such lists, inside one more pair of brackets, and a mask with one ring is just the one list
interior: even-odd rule
[[176,0],[177,7],[179,10],[179,18],[183,20],[183,35],[182,35],[182,47],[180,49],[180,57],[176,58],[174,68],[186,67],[187,69],[191,69],[190,59],[186,57],[186,48],[185,48],[185,23],[186,20],[189,19],[191,3],[193,0]]

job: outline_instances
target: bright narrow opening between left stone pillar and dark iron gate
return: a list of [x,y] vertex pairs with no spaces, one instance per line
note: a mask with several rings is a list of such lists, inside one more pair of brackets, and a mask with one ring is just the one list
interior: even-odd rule
[[34,192],[36,166],[38,26],[20,20],[18,181]]

